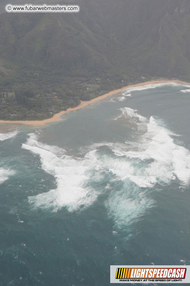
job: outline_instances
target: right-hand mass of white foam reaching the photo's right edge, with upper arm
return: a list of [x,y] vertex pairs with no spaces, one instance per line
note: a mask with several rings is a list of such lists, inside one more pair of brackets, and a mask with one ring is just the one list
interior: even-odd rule
[[[137,118],[135,124],[139,131],[146,130],[145,134],[140,134],[137,142],[102,143],[93,144],[92,148],[107,145],[117,157],[107,157],[107,162],[101,162],[103,168],[108,168],[120,179],[129,178],[139,187],[154,187],[156,183],[170,183],[176,178],[183,185],[188,185],[190,180],[190,152],[186,148],[175,143],[171,136],[179,136],[166,129],[163,124],[158,124],[157,120],[150,117],[150,120],[137,114],[131,108],[121,108],[122,114],[126,118]],[[135,149],[134,151],[129,151]],[[121,159],[122,157],[122,159]],[[104,156],[104,159],[106,157]],[[129,159],[128,159],[129,158]],[[144,163],[149,160],[149,163]],[[102,158],[103,161],[103,158]],[[134,168],[138,164],[138,168]]]

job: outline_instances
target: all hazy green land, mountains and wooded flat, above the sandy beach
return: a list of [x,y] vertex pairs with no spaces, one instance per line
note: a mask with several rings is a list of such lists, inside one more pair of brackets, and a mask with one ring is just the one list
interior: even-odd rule
[[150,77],[190,81],[189,0],[71,2],[79,13],[1,14],[0,119],[48,118]]

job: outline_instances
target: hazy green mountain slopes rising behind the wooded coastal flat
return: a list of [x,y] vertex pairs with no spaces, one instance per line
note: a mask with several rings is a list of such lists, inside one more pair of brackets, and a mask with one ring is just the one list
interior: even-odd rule
[[[74,3],[81,12],[1,14],[1,66],[56,68],[66,74],[79,69],[85,77],[92,71],[102,77],[101,71],[112,74],[114,69],[128,74],[130,66],[137,74],[190,77],[188,1]],[[175,70],[174,58],[178,68],[183,61],[181,73]]]

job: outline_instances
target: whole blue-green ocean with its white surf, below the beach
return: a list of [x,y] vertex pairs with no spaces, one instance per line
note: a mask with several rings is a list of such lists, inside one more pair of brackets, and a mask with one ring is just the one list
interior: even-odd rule
[[0,285],[107,286],[110,265],[189,265],[189,88],[131,87],[0,134]]

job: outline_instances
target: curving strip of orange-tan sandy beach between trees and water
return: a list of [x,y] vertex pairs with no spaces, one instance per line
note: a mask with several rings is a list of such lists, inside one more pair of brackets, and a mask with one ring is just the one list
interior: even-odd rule
[[122,88],[119,88],[117,90],[112,90],[108,93],[105,93],[104,95],[100,95],[96,98],[93,98],[91,100],[88,100],[88,101],[81,101],[80,104],[74,108],[68,108],[66,111],[60,111],[59,113],[56,113],[53,115],[53,117],[51,118],[48,118],[48,119],[44,119],[44,120],[17,120],[17,121],[9,121],[9,120],[0,120],[0,123],[4,124],[4,123],[7,123],[7,124],[25,124],[25,125],[33,125],[33,126],[37,126],[37,125],[44,125],[46,123],[51,123],[51,122],[55,122],[55,121],[61,121],[63,119],[59,118],[62,114],[65,114],[67,112],[71,112],[71,111],[75,111],[75,110],[78,110],[80,109],[81,107],[83,106],[86,106],[86,105],[89,105],[90,103],[92,102],[95,102],[96,100],[100,100],[100,99],[103,99],[103,98],[106,98],[107,96],[110,96],[110,95],[114,95],[116,93],[119,93],[123,90],[125,90],[126,88],[129,88],[129,87],[136,87],[136,86],[144,86],[144,85],[151,85],[151,84],[157,84],[157,83],[167,83],[167,82],[176,82],[176,83],[181,83],[181,84],[190,84],[189,82],[183,82],[181,80],[178,80],[178,79],[173,79],[173,80],[167,80],[167,79],[162,79],[162,80],[151,80],[151,81],[148,81],[148,82],[141,82],[141,83],[137,83],[137,84],[134,84],[134,85],[127,85],[125,87],[122,87]]

